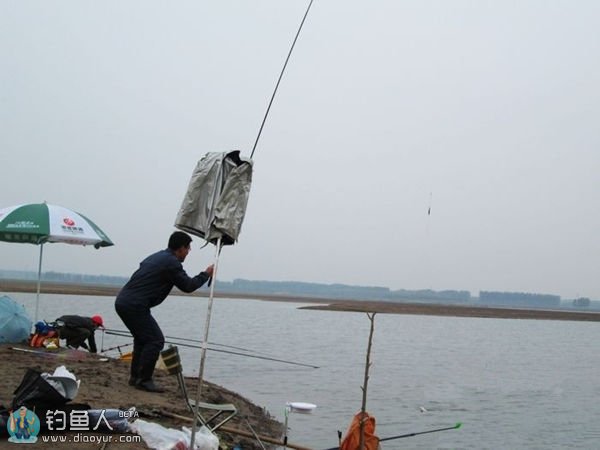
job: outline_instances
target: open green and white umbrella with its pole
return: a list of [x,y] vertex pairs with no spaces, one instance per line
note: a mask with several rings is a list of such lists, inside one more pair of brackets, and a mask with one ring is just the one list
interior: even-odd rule
[[114,245],[106,233],[84,215],[47,203],[31,203],[0,209],[0,241],[40,246],[34,322],[37,322],[40,301],[44,244],[62,242],[73,245],[93,245],[95,248]]

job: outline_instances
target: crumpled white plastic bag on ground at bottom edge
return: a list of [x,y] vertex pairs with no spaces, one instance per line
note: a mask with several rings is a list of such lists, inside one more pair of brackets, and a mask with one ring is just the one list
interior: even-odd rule
[[[192,450],[190,441],[192,431],[186,427],[181,430],[165,428],[154,422],[138,419],[130,424],[130,430],[144,439],[146,445],[155,450]],[[218,450],[219,438],[206,427],[201,427],[194,437],[193,450]]]

